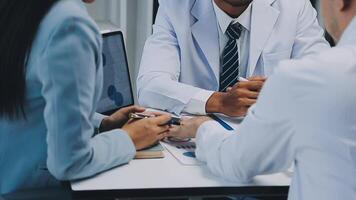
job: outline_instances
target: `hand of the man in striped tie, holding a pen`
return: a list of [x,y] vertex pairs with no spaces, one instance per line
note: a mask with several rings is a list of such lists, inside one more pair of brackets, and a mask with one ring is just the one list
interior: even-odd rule
[[215,92],[207,102],[207,113],[222,113],[231,117],[243,117],[256,103],[266,81],[265,77],[252,77],[246,82],[239,82],[227,92]]

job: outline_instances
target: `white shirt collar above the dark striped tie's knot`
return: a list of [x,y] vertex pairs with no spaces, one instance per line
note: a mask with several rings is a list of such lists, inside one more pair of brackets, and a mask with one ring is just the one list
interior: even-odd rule
[[213,1],[215,15],[220,26],[220,29],[223,33],[226,32],[227,28],[231,23],[239,23],[244,29],[250,31],[251,30],[251,13],[252,13],[252,3],[248,6],[248,8],[243,12],[238,18],[232,18],[228,14],[226,14],[223,10],[216,5],[215,1]]

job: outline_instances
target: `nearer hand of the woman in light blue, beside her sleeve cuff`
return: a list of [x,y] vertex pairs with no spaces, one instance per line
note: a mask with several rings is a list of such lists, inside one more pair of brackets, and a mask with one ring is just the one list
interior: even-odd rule
[[155,115],[156,117],[129,121],[122,128],[131,137],[136,150],[150,147],[167,136],[169,125],[165,124],[171,120],[171,116]]

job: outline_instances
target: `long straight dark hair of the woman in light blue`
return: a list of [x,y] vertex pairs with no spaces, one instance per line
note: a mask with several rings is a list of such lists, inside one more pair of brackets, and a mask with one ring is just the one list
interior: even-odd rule
[[41,21],[57,1],[0,1],[0,118],[25,117],[27,57]]

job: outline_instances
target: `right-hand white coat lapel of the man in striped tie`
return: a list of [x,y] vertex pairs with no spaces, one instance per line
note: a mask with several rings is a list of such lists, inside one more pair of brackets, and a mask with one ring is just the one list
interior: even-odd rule
[[258,59],[279,17],[279,11],[271,6],[275,0],[255,0],[252,5],[250,36],[249,76],[252,76]]

